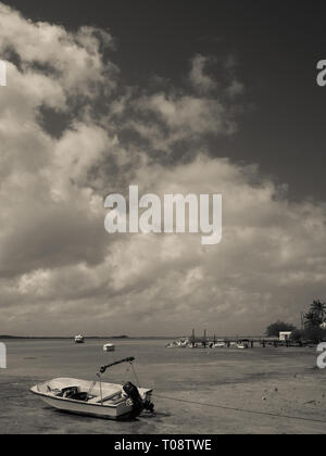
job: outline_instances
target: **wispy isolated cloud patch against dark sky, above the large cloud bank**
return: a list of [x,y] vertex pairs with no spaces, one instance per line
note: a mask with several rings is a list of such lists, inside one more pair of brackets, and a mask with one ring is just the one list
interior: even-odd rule
[[[220,65],[220,79],[205,73],[211,59],[196,55],[188,75],[190,87],[168,81],[134,93],[127,105],[124,129],[136,132],[148,155],[160,153],[179,159],[197,155],[209,138],[231,136],[237,131],[237,99],[244,87],[234,69]],[[164,79],[163,79],[164,83]],[[124,111],[124,114],[126,111]]]

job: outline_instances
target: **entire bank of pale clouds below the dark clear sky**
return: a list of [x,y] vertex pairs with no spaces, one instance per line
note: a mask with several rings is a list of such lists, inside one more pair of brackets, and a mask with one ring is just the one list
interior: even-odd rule
[[[261,333],[273,319],[296,322],[325,293],[325,205],[291,203],[256,165],[210,157],[208,137],[237,130],[243,86],[229,74],[222,88],[197,55],[188,91],[124,87],[104,48],[114,50],[108,31],[71,33],[0,3],[0,333]],[[131,183],[222,193],[223,242],[108,235],[104,197]]]

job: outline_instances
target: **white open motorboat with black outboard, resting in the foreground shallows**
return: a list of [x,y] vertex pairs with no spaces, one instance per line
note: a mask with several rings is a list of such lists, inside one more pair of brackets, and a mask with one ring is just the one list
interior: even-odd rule
[[104,383],[101,376],[108,368],[122,363],[134,363],[125,358],[101,367],[95,382],[60,378],[37,384],[30,389],[46,404],[62,411],[106,419],[127,419],[139,416],[143,410],[153,411],[152,390],[137,388],[133,383]]

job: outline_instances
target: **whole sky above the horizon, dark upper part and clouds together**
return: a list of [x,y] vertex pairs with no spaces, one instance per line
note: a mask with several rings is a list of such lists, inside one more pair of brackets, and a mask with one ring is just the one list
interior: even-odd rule
[[[0,333],[260,334],[325,300],[321,1],[0,2]],[[103,201],[222,193],[223,241]]]

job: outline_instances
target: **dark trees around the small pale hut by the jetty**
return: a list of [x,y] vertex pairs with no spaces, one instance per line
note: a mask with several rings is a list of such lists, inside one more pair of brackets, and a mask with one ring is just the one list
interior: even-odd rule
[[302,318],[303,329],[298,329],[291,324],[278,320],[267,327],[266,335],[278,338],[279,332],[292,332],[291,339],[294,341],[313,343],[326,341],[326,304],[324,302],[315,300]]

